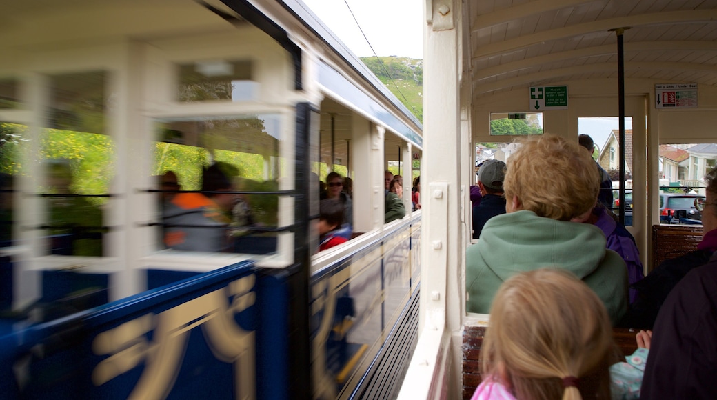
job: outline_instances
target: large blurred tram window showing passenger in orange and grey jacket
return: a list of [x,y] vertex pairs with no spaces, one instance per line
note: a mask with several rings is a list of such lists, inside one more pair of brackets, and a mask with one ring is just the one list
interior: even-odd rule
[[[267,231],[275,231],[272,228],[279,224],[279,196],[259,192],[278,191],[279,178],[285,176],[287,163],[279,153],[280,115],[161,120],[156,128],[153,174],[166,177],[171,172],[177,184],[167,191],[160,189],[160,247],[275,252],[277,233]],[[203,186],[203,170],[214,163],[219,178]],[[209,219],[197,214],[206,207],[217,213]]]

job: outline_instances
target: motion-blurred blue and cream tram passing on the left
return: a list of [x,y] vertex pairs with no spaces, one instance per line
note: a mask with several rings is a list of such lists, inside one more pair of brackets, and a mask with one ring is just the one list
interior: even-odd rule
[[[397,396],[422,125],[301,1],[0,15],[1,399]],[[222,251],[168,247],[166,201],[218,194],[201,174],[219,163]],[[388,224],[387,169],[407,210]],[[353,226],[318,252],[331,171],[353,180]]]

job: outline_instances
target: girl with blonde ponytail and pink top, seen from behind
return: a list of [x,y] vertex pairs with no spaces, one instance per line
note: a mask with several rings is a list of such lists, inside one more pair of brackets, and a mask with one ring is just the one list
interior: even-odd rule
[[602,301],[571,272],[538,269],[500,287],[472,400],[610,399],[617,361]]

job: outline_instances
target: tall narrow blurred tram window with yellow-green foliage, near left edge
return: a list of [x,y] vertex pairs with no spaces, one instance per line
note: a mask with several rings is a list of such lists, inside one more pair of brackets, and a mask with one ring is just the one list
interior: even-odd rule
[[105,254],[105,212],[115,174],[115,146],[105,135],[105,72],[49,77],[48,127],[39,132],[37,194],[44,205],[45,254]]

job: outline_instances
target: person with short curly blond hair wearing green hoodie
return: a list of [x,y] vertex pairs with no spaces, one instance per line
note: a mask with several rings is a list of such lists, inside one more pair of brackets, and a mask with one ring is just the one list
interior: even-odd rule
[[466,309],[488,313],[500,284],[516,272],[560,267],[604,302],[612,323],[627,310],[627,268],[587,219],[597,201],[595,163],[556,135],[529,138],[508,158],[503,191],[508,214],[491,218],[466,254]]

